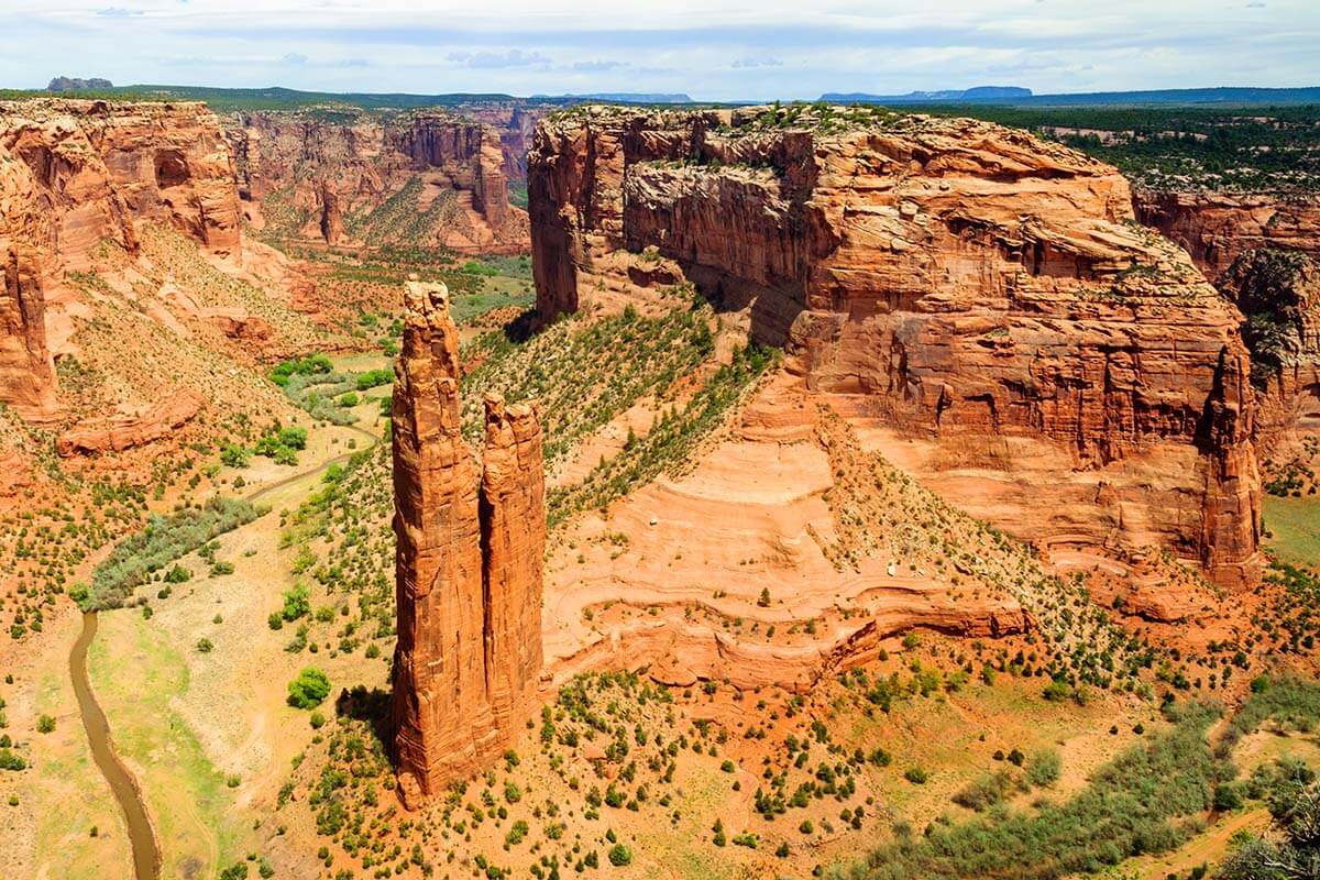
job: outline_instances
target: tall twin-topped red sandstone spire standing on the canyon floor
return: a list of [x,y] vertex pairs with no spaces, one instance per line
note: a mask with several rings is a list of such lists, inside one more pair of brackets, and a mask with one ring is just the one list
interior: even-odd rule
[[541,669],[541,430],[486,402],[484,470],[459,430],[444,285],[409,282],[393,396],[400,793],[413,806],[507,748]]

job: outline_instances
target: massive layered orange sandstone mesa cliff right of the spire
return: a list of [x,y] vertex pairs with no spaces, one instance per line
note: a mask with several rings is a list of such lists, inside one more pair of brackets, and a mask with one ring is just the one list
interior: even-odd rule
[[[638,256],[651,248],[784,344],[809,388],[946,458],[1011,472],[990,438],[1061,450],[1059,486],[1018,501],[1056,492],[1092,515],[1010,517],[1014,530],[1158,540],[1221,583],[1251,582],[1241,315],[1135,223],[1122,175],[985,123],[828,113],[586,108],[543,123],[528,179],[543,319],[664,278]],[[1085,500],[1063,495],[1077,474],[1102,475]]]

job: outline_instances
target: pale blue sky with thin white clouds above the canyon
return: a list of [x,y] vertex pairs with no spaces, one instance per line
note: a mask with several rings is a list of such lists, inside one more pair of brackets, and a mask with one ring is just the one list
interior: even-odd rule
[[1320,84],[1320,0],[0,0],[0,87],[739,100]]

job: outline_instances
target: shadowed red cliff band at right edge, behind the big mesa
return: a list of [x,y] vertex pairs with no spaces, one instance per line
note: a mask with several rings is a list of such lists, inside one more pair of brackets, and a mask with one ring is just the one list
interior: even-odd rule
[[1288,248],[1320,257],[1316,198],[1138,190],[1133,206],[1137,219],[1187,248],[1212,281],[1255,248]]

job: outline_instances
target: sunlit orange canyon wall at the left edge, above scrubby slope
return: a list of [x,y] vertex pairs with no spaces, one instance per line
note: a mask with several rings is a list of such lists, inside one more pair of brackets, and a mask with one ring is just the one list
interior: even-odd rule
[[215,253],[239,247],[228,146],[199,103],[0,102],[0,401],[55,408],[45,290],[102,241],[137,251],[137,223]]

